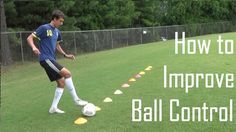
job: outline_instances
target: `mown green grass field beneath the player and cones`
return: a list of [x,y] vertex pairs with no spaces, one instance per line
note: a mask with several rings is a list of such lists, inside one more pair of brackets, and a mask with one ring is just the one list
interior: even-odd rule
[[[235,36],[236,33],[227,33],[223,39],[236,42]],[[73,104],[68,91],[59,103],[66,114],[48,114],[56,85],[48,81],[38,63],[12,66],[2,75],[1,132],[236,131],[236,109],[233,122],[169,121],[168,101],[172,98],[178,98],[182,106],[201,106],[203,102],[209,106],[228,106],[229,99],[236,101],[235,88],[201,87],[188,94],[180,88],[163,88],[163,65],[167,65],[170,72],[236,73],[236,54],[217,54],[216,38],[216,34],[197,37],[212,39],[208,55],[175,55],[174,41],[170,40],[81,55],[75,61],[59,60],[72,72],[81,98],[102,109],[95,117],[87,118],[87,124],[79,126],[73,122],[82,115],[81,107]],[[149,65],[153,69],[131,83],[131,87],[120,87]],[[124,94],[113,95],[116,89]],[[111,97],[113,102],[103,103],[105,97]],[[154,99],[161,98],[163,121],[132,122],[131,101],[135,98],[142,99],[144,106],[152,106]],[[217,119],[217,115],[214,118]]]

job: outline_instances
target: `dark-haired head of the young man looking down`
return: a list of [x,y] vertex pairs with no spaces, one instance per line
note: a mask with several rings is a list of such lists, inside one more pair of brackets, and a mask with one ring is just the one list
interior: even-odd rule
[[53,25],[55,27],[59,27],[61,25],[63,25],[63,22],[64,22],[64,13],[60,10],[54,10],[52,12],[52,22],[53,22]]

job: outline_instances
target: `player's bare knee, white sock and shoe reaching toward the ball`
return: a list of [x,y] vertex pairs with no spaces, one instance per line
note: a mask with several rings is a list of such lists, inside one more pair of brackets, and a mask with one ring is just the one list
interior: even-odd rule
[[80,105],[80,106],[86,105],[88,102],[80,99],[76,93],[75,86],[73,84],[70,71],[66,68],[62,68],[60,71],[60,75],[65,77],[65,86],[70,91],[70,94],[71,94],[75,104]]

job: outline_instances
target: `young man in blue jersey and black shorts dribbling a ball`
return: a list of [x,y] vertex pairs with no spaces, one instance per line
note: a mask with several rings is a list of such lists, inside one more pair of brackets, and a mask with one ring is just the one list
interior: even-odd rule
[[[61,26],[63,22],[63,12],[55,10],[52,13],[51,22],[49,24],[41,25],[27,38],[27,42],[32,48],[32,51],[39,56],[40,65],[46,71],[50,81],[57,82],[54,99],[51,108],[49,109],[49,113],[65,113],[57,107],[65,86],[70,91],[76,105],[84,106],[88,103],[77,96],[70,71],[56,62],[56,50],[64,55],[65,58],[75,59],[74,55],[66,54],[60,46],[62,37],[57,28]],[[39,40],[39,49],[35,46],[33,38]]]

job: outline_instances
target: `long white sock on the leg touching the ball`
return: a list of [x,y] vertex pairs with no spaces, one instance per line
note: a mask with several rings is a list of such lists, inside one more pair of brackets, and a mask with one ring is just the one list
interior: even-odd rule
[[68,88],[68,90],[70,91],[70,94],[71,94],[73,100],[79,100],[79,97],[75,91],[75,86],[73,84],[72,77],[66,78],[65,84],[66,84],[66,87]]

